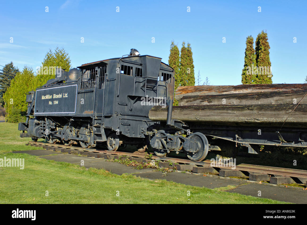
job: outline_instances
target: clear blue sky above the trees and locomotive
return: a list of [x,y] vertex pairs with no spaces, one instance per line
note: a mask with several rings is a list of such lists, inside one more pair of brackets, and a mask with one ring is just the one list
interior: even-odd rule
[[[45,12],[46,6],[49,12]],[[24,65],[35,69],[49,48],[56,46],[69,53],[72,67],[120,57],[129,54],[130,48],[168,63],[174,40],[179,48],[182,41],[191,44],[195,75],[200,70],[202,80],[208,77],[213,85],[238,85],[246,37],[255,39],[264,29],[269,38],[273,83],[303,83],[307,75],[306,6],[307,1],[280,0],[2,0],[0,65],[13,61],[20,69]]]

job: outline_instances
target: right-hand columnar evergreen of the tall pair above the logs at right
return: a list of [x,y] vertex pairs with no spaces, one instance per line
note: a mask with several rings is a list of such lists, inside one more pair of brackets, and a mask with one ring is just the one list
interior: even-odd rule
[[[272,71],[270,61],[270,45],[266,31],[258,34],[256,38],[256,63],[257,72],[256,83],[272,83]],[[255,72],[255,71],[254,71]]]

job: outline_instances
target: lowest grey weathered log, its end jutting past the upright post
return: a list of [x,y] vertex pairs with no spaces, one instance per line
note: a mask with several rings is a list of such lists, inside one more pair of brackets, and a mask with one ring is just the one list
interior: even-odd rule
[[[172,119],[185,122],[219,123],[234,126],[280,126],[296,107],[294,104],[279,105],[203,105],[174,106]],[[149,118],[166,121],[168,107],[153,107]],[[307,104],[299,104],[284,126],[307,126]]]

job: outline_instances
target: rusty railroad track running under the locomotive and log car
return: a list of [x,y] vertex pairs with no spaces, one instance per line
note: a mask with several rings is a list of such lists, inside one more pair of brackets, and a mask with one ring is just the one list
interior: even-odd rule
[[[145,156],[148,154],[146,152],[139,153],[138,151],[121,152],[121,151],[109,151],[109,150],[102,150],[102,149],[95,149],[95,148],[84,149],[82,147],[77,147],[77,146],[65,146],[65,145],[60,145],[60,144],[49,144],[45,142],[29,142],[28,145],[42,146],[45,149],[54,150],[54,151],[58,150],[61,152],[68,152],[68,153],[81,153],[83,155],[97,157],[97,158],[102,158],[103,155],[107,154],[107,155],[113,155],[113,156],[114,155],[125,155],[129,157],[141,158],[141,159],[146,160]],[[211,161],[211,160],[192,161],[192,160],[174,158],[174,157],[158,157],[155,155],[153,155],[150,159],[167,161],[167,162],[169,161],[175,162],[175,163],[180,164],[182,168],[184,168],[185,165],[191,165],[193,166],[193,169],[190,169],[190,170],[193,171],[194,173],[211,172],[211,173],[219,173],[221,175],[221,171],[226,170],[226,173],[222,172],[222,174],[237,175],[237,176],[230,176],[230,177],[240,177],[238,176],[240,175],[240,173],[241,175],[247,176],[247,177],[250,174],[256,174],[256,175],[257,174],[258,175],[267,174],[270,177],[275,177],[275,180],[278,179],[276,177],[290,178],[291,183],[306,184],[306,181],[307,181],[307,170],[301,170],[301,169],[287,169],[287,168],[280,168],[280,167],[251,165],[251,164],[244,164],[244,163],[235,165],[235,169],[230,169],[234,167],[234,164],[231,162]],[[191,166],[187,168],[192,168]],[[225,177],[227,177],[227,175]],[[270,183],[271,183],[271,180],[270,180]]]

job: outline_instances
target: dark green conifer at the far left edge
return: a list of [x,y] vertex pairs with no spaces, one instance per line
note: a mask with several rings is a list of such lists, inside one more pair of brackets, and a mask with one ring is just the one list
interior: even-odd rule
[[[0,67],[1,68],[1,67]],[[14,66],[13,62],[6,64],[0,71],[0,104],[4,105],[3,95],[7,88],[10,87],[12,77],[19,72],[19,69]],[[15,75],[14,75],[15,74]]]

